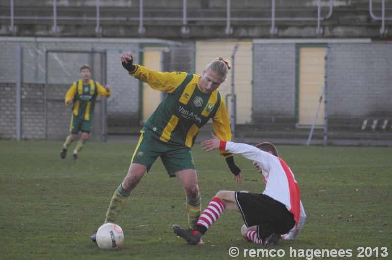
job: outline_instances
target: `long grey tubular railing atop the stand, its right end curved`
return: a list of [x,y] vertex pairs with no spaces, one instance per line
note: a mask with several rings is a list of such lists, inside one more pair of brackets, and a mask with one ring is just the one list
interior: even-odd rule
[[[298,2],[299,1],[295,1]],[[289,4],[292,4],[293,1],[289,0],[287,2]],[[171,22],[182,22],[182,27],[181,27],[181,33],[182,34],[189,34],[189,22],[192,21],[221,21],[221,22],[226,22],[226,29],[225,33],[227,35],[230,35],[233,33],[233,28],[231,23],[232,22],[238,22],[238,21],[253,21],[253,22],[259,22],[259,21],[267,21],[271,22],[271,29],[270,29],[270,34],[271,35],[276,35],[277,34],[277,27],[276,27],[276,21],[317,21],[317,28],[316,28],[316,34],[321,35],[322,34],[322,28],[321,28],[321,21],[326,20],[330,18],[332,15],[332,10],[333,10],[333,0],[329,0],[329,10],[328,14],[326,16],[321,16],[321,0],[317,0],[317,13],[315,12],[314,16],[303,16],[303,17],[289,17],[289,16],[277,16],[276,13],[279,11],[279,8],[276,7],[275,0],[271,0],[271,9],[270,9],[270,17],[267,15],[267,13],[261,14],[260,16],[253,16],[253,17],[248,17],[248,16],[233,16],[232,13],[233,8],[231,7],[231,0],[227,0],[227,5],[226,5],[226,11],[225,15],[211,15],[209,17],[200,17],[200,16],[195,16],[195,17],[190,17],[187,15],[188,9],[187,9],[187,0],[182,0],[182,10],[172,10],[174,12],[179,13],[178,16],[149,16],[146,17],[144,16],[144,3],[143,0],[139,0],[139,13],[138,15],[135,16],[129,16],[129,12],[127,12],[128,16],[116,16],[116,17],[101,17],[100,16],[100,3],[99,0],[96,0],[96,13],[95,16],[84,16],[83,18],[81,17],[76,17],[76,16],[58,16],[58,10],[57,10],[57,0],[53,0],[53,15],[52,16],[15,16],[14,15],[14,1],[10,0],[10,16],[0,16],[0,19],[10,19],[10,27],[9,31],[13,34],[16,34],[17,28],[15,26],[15,20],[53,20],[53,26],[52,26],[52,32],[53,34],[58,34],[59,33],[59,26],[58,26],[58,21],[59,20],[89,20],[89,21],[96,21],[96,29],[95,32],[97,35],[100,35],[102,32],[102,28],[100,25],[101,21],[139,21],[139,34],[144,34],[146,29],[144,26],[144,23],[146,21],[171,21]],[[282,4],[283,6],[284,4]],[[69,7],[64,7],[68,8]],[[64,9],[63,8],[63,9]],[[152,10],[152,9],[151,9]],[[222,10],[223,11],[223,10]],[[246,11],[246,10],[244,10]],[[248,10],[249,12],[252,10]],[[268,10],[267,10],[268,11]],[[92,12],[90,10],[89,12]],[[64,12],[64,13],[72,13],[72,9],[69,9],[69,12]],[[181,14],[180,14],[181,13]],[[125,14],[125,13],[123,13]],[[161,14],[161,12],[160,12]],[[252,12],[254,14],[254,12]],[[264,15],[264,17],[263,17]]]

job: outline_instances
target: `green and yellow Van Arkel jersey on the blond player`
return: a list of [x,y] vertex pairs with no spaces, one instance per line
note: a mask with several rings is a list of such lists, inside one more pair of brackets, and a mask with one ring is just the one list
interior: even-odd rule
[[[203,93],[198,86],[200,76],[195,74],[158,72],[138,64],[135,66],[135,71],[129,75],[153,89],[168,92],[146,121],[144,130],[153,131],[163,142],[192,148],[199,129],[212,119],[215,134],[223,141],[231,141],[227,109],[218,90]],[[229,155],[223,150],[220,153]]]

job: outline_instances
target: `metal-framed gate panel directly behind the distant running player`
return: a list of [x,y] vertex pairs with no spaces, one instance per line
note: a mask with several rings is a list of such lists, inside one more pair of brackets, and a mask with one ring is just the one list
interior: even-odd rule
[[[45,52],[44,118],[45,140],[61,140],[69,133],[72,106],[64,97],[72,83],[80,79],[80,66],[89,64],[91,79],[106,85],[105,50],[52,49]],[[107,140],[106,99],[97,96],[90,140]]]

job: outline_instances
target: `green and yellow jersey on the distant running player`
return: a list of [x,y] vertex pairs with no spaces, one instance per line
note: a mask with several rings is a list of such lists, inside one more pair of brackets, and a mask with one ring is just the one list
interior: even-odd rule
[[81,79],[73,82],[70,89],[65,95],[65,104],[67,104],[67,99],[73,99],[73,116],[80,117],[83,120],[89,121],[93,119],[94,116],[94,106],[97,95],[103,97],[109,97],[112,91],[106,91],[101,84],[90,79],[90,83],[84,84]]

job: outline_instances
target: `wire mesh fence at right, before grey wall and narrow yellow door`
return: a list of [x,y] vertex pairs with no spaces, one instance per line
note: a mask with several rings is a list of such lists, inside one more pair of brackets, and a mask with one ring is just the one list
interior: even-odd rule
[[391,44],[280,46],[254,46],[252,123],[237,141],[392,145]]

